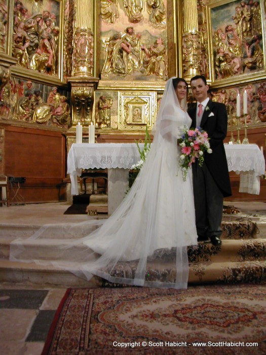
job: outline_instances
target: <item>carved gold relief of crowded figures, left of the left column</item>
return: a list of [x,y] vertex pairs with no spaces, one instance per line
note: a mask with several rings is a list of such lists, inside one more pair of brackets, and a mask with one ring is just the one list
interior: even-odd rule
[[13,4],[10,54],[18,59],[19,67],[63,80],[62,36],[67,14],[63,0],[13,0]]

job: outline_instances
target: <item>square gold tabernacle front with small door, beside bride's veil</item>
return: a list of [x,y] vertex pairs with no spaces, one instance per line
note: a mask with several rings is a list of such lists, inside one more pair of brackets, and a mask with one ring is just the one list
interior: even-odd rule
[[[157,92],[118,93],[118,129],[124,131],[151,129],[157,114]],[[134,112],[138,110],[138,118]]]

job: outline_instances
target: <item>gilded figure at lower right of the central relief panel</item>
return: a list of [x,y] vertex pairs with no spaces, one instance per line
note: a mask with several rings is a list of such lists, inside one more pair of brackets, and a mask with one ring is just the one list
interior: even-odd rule
[[156,75],[165,80],[168,77],[168,59],[163,40],[158,38],[149,49],[146,45],[141,48],[145,53],[143,58],[144,75]]

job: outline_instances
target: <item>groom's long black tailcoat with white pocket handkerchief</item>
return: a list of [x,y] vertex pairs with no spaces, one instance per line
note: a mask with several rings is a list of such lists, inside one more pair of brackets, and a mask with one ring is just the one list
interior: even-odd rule
[[[209,109],[207,109],[207,107]],[[196,127],[197,104],[188,109],[192,127]],[[210,114],[213,115],[210,116]],[[201,127],[208,133],[212,153],[204,154],[204,161],[224,197],[231,196],[231,185],[223,139],[227,132],[227,112],[223,103],[208,101],[201,120]]]

